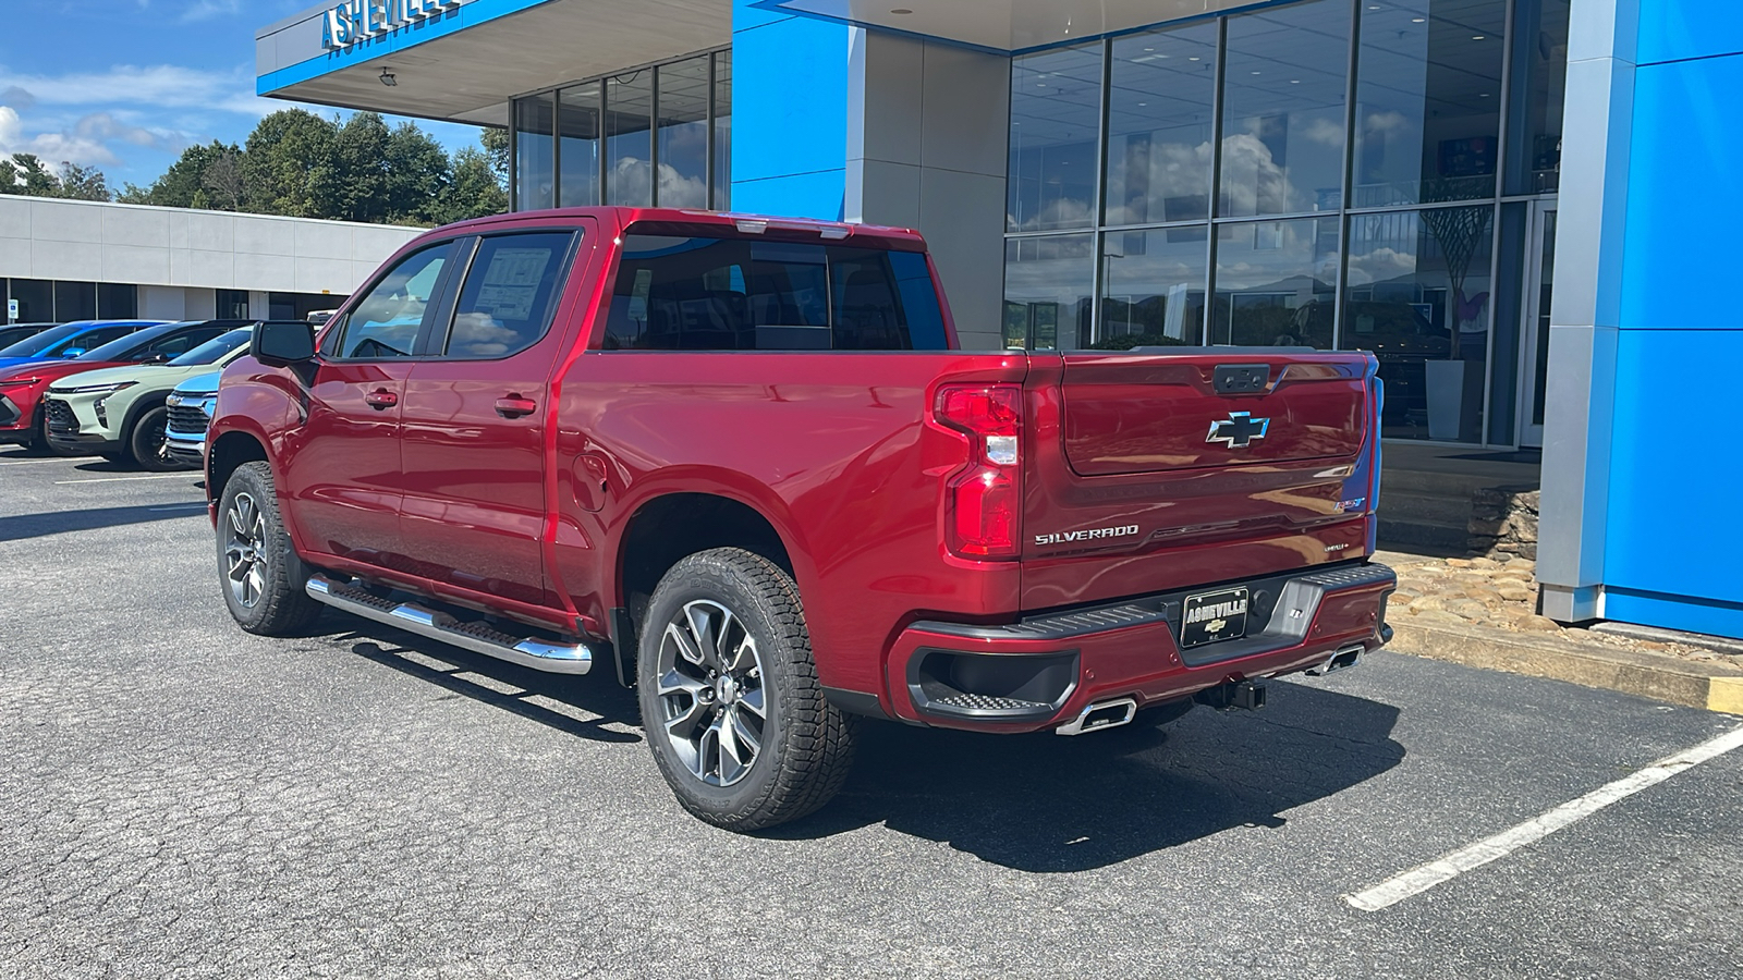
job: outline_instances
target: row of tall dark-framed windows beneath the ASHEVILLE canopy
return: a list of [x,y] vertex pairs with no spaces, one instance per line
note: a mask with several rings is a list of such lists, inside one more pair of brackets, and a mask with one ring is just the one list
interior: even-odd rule
[[516,211],[730,208],[732,58],[713,51],[514,99]]

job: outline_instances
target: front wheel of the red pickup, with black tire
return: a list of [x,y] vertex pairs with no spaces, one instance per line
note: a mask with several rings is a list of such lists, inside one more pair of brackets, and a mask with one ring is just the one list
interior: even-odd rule
[[[268,464],[244,462],[230,474],[218,500],[214,539],[223,602],[242,630],[293,636],[321,616],[321,603],[303,591],[309,567],[284,530]],[[244,560],[239,579],[235,568]]]

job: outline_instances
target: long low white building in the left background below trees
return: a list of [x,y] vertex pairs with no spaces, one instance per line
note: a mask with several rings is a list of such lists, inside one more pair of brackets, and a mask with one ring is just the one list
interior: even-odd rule
[[300,319],[422,228],[0,195],[9,323]]

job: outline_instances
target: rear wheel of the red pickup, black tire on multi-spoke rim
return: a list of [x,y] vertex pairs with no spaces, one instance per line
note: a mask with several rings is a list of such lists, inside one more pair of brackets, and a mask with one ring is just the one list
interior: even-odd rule
[[[692,638],[699,661],[668,626]],[[704,635],[706,643],[694,640]],[[730,657],[704,649],[722,638]],[[715,682],[709,659],[720,668]],[[749,551],[716,548],[666,572],[641,626],[636,687],[654,762],[678,802],[715,827],[748,832],[805,816],[830,802],[852,767],[858,720],[823,696],[798,588]],[[718,732],[713,750],[708,732]]]

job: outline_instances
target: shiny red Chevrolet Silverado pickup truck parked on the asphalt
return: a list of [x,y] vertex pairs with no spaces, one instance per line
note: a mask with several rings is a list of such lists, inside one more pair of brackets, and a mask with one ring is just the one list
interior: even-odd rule
[[859,717],[1077,734],[1354,664],[1379,410],[1361,352],[959,350],[906,230],[539,211],[260,328],[206,487],[244,630],[608,663],[683,806],[753,830]]

